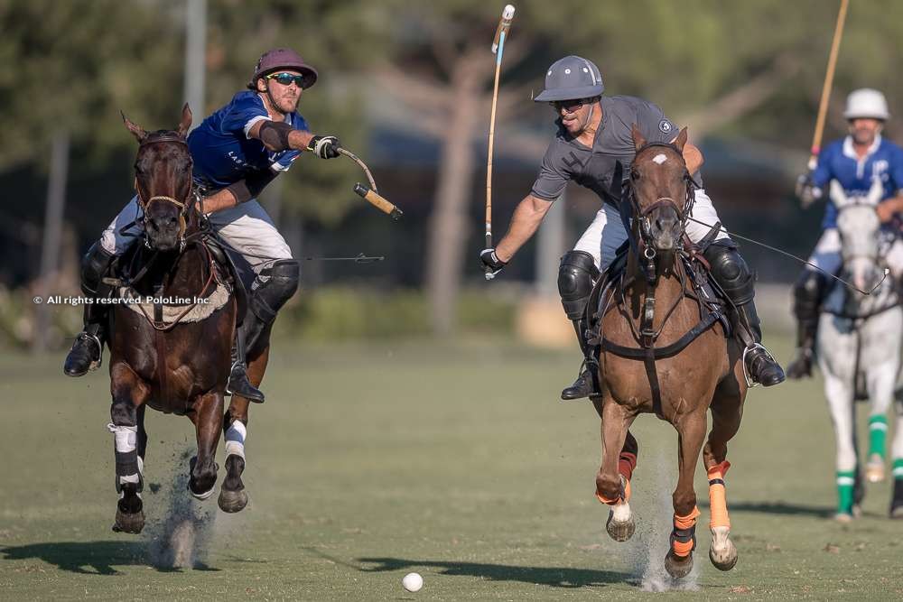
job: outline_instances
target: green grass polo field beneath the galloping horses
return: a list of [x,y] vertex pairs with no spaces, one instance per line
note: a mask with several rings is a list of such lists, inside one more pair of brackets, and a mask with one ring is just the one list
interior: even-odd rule
[[[787,358],[788,341],[770,341]],[[599,421],[560,403],[573,353],[483,342],[277,347],[252,408],[251,502],[215,520],[193,569],[155,560],[185,418],[148,412],[140,536],[112,533],[108,379],[61,374],[62,357],[0,360],[0,598],[890,599],[903,597],[903,522],[889,484],[834,523],[833,435],[819,382],[754,390],[727,477],[736,569],[708,560],[704,474],[694,591],[645,593],[670,530],[675,431],[639,419],[638,532],[617,543],[593,497]],[[219,448],[222,462],[222,445]],[[155,490],[156,492],[154,493]],[[405,573],[424,576],[416,593]]]

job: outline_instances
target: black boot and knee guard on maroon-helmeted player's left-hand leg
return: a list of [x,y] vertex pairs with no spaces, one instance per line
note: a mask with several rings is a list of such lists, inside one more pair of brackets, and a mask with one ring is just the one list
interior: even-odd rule
[[62,369],[67,376],[86,375],[89,370],[98,369],[103,362],[108,306],[96,301],[110,293],[110,286],[103,282],[103,276],[113,257],[95,243],[81,261],[81,291],[95,302],[85,305],[85,327],[75,338],[63,364]]

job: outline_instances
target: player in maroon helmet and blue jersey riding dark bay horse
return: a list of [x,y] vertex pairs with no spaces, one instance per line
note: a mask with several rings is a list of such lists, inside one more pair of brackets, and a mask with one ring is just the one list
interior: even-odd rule
[[[256,273],[248,298],[244,337],[232,351],[228,392],[256,402],[264,394],[247,380],[244,344],[248,347],[275,320],[298,288],[300,265],[264,208],[256,201],[260,191],[288,170],[302,151],[321,159],[339,156],[339,139],[313,135],[296,112],[303,90],[317,80],[317,71],[292,50],[265,52],[257,61],[247,91],[238,92],[188,137],[194,160],[195,184],[203,190],[199,209],[226,243],[240,253]],[[141,209],[133,198],[82,262],[81,287],[92,298],[107,296],[102,282],[116,255],[135,241],[142,229]],[[131,225],[131,226],[129,226]],[[107,306],[85,306],[85,329],[66,357],[64,371],[81,376],[100,364],[108,333]]]

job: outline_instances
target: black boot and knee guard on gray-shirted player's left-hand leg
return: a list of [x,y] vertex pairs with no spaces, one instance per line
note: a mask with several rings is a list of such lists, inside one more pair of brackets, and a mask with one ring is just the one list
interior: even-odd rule
[[592,255],[585,251],[568,251],[562,257],[558,268],[558,292],[562,296],[564,313],[573,323],[577,332],[577,343],[583,352],[583,365],[577,380],[562,390],[562,400],[583,399],[597,392],[594,390],[594,378],[591,370],[595,369],[596,359],[593,350],[586,342],[586,324],[583,313],[590,299],[592,284],[599,278],[599,269]]

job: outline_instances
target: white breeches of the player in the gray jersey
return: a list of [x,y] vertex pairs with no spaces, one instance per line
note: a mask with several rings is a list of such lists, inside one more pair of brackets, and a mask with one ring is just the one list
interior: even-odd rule
[[[712,199],[705,194],[705,190],[695,190],[694,196],[695,201],[690,217],[704,222],[707,226],[688,221],[686,224],[686,235],[694,243],[698,243],[703,239],[703,236],[709,233],[715,222],[721,220],[718,219],[718,213],[712,205]],[[580,237],[573,249],[574,251],[585,251],[592,255],[596,262],[596,267],[604,270],[615,258],[615,251],[618,250],[620,245],[624,244],[627,236],[627,230],[624,229],[618,209],[605,203],[596,213],[596,217],[592,220],[590,227],[586,228],[583,236]],[[715,239],[720,240],[729,237],[722,230]]]

